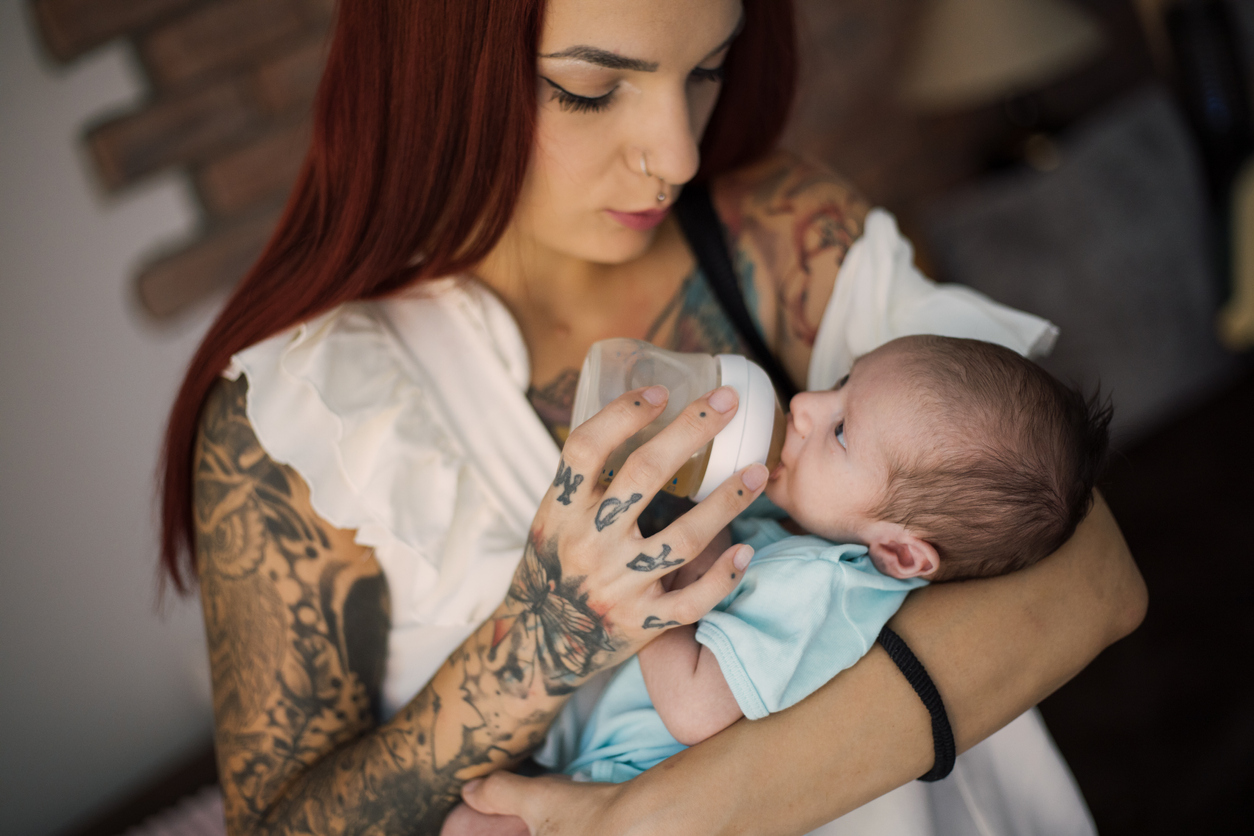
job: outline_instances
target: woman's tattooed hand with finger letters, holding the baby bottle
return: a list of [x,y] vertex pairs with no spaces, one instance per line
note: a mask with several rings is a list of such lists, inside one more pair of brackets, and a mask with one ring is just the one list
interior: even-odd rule
[[608,488],[597,481],[611,452],[656,419],[662,386],[627,392],[577,427],[532,524],[509,595],[494,617],[502,664],[518,686],[538,679],[551,696],[569,693],[601,668],[626,659],[661,630],[691,624],[731,592],[751,555],[730,548],[683,589],[662,580],[706,544],[766,484],[766,468],[734,475],[695,509],[651,538],[636,519],[662,485],[731,420],[735,390],[697,399],[636,450]]

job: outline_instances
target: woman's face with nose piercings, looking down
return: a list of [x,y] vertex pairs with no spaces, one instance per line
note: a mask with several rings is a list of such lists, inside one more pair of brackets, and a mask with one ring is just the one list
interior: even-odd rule
[[740,0],[548,0],[523,241],[611,264],[648,248],[697,172],[740,19]]

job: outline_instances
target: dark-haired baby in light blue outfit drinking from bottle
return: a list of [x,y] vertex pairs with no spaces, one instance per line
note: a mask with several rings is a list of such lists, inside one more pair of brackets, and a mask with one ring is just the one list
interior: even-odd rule
[[811,535],[734,524],[755,548],[740,585],[614,674],[561,766],[626,781],[804,699],[867,653],[910,589],[1050,554],[1088,510],[1110,417],[1013,351],[933,336],[798,395],[766,495]]

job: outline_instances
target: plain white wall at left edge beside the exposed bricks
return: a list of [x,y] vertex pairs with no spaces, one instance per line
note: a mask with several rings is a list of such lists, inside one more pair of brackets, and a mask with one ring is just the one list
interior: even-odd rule
[[168,328],[129,276],[186,234],[168,177],[97,188],[83,125],[142,94],[113,45],[61,69],[0,0],[0,832],[73,825],[211,731],[194,602],[155,610],[153,473],[211,311]]

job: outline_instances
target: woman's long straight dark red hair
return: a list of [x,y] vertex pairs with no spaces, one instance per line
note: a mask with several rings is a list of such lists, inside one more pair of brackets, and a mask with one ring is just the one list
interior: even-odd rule
[[[744,6],[698,179],[771,150],[793,100],[791,0]],[[161,564],[179,592],[196,574],[192,459],[211,386],[242,348],[345,302],[466,272],[489,253],[530,157],[543,16],[544,0],[337,4],[300,177],[171,411]]]

